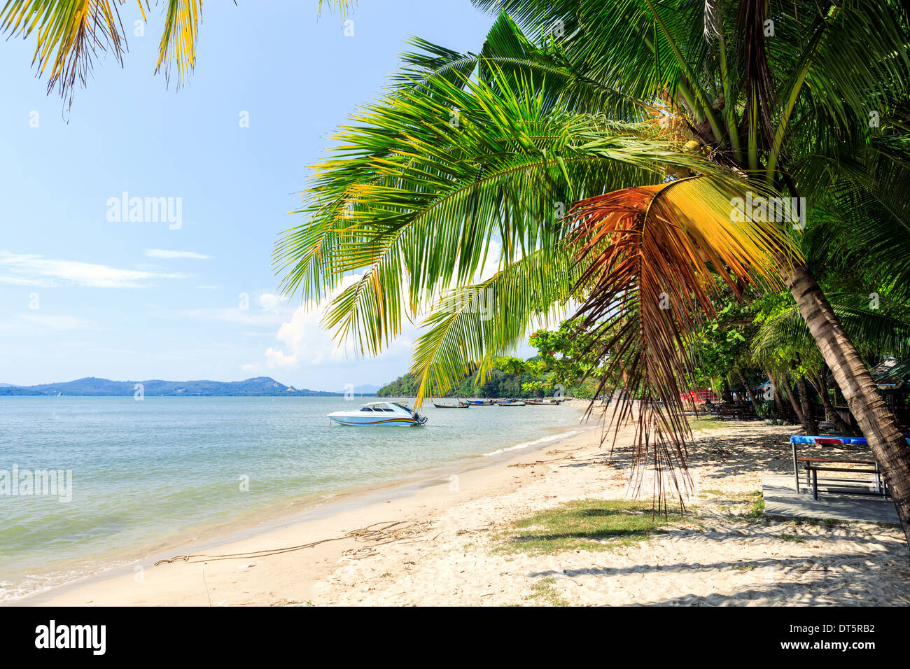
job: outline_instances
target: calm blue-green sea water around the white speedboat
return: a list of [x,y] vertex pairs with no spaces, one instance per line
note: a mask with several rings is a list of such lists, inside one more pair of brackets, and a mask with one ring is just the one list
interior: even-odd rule
[[[341,492],[553,439],[581,418],[570,406],[430,405],[422,428],[329,423],[329,411],[361,401],[370,400],[0,398],[0,601]],[[14,467],[20,488],[25,471],[71,471],[71,490],[9,494],[3,472]]]

